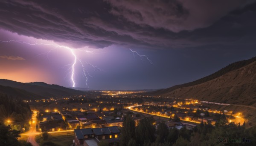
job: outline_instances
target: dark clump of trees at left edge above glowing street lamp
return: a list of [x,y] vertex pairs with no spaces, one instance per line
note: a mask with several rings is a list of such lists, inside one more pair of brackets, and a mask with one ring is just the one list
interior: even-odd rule
[[0,94],[0,115],[0,122],[2,123],[11,120],[12,124],[21,124],[29,120],[31,110],[29,104],[24,103],[21,99]]

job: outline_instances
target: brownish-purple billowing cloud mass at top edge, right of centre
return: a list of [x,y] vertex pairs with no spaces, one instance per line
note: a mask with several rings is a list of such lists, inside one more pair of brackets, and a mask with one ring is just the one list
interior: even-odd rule
[[107,0],[111,13],[126,20],[179,32],[210,26],[246,0]]

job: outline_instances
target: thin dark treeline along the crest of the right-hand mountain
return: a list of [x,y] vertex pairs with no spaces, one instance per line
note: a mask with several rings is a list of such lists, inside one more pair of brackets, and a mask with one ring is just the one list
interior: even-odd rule
[[[220,69],[219,71],[213,73],[213,74],[210,74],[206,77],[203,77],[201,79],[198,79],[198,80],[195,80],[193,82],[189,82],[189,83],[184,83],[184,84],[181,84],[181,85],[176,85],[176,86],[172,86],[170,88],[168,88],[168,92],[171,92],[171,91],[174,91],[176,89],[179,89],[179,88],[184,88],[184,87],[189,87],[189,86],[194,86],[194,85],[198,85],[198,84],[201,84],[201,83],[205,83],[209,80],[213,80],[217,77],[220,77],[228,72],[231,72],[231,71],[234,71],[236,69],[240,69],[241,67],[244,67],[244,66],[247,66],[249,65],[250,63],[253,63],[256,61],[256,57],[253,57],[251,59],[248,59],[248,60],[241,60],[241,61],[238,61],[238,62],[235,62],[235,63],[231,63],[229,64],[228,66]],[[160,91],[165,91],[166,89],[163,89],[163,90],[160,90]]]

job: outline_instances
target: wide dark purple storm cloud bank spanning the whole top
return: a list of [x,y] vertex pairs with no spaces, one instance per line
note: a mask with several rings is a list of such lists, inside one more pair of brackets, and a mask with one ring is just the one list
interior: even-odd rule
[[[251,31],[255,28],[251,25],[255,23],[255,10],[248,7],[254,1],[10,0],[0,2],[0,26],[75,47],[225,46],[255,37]],[[239,12],[230,13],[235,10]],[[249,38],[244,34],[250,34]]]

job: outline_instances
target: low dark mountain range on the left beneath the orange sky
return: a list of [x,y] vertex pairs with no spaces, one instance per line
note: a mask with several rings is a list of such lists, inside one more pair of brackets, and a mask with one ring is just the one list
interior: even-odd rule
[[5,79],[0,79],[0,92],[22,99],[67,97],[84,94],[82,91],[65,88],[59,85],[49,85],[43,82],[20,83]]

